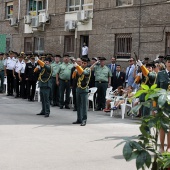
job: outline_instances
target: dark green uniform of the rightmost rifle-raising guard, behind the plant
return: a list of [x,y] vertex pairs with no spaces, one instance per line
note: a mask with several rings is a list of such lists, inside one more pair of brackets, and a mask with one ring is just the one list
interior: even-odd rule
[[[142,82],[146,85],[148,85],[149,87],[151,87],[153,84],[156,83],[156,73],[155,72],[150,72],[148,74],[148,76],[144,77]],[[144,102],[145,101],[145,96],[146,94],[142,94],[139,98],[140,102]],[[152,107],[152,104],[151,104]],[[141,112],[142,112],[142,116],[149,116],[150,115],[150,111],[151,111],[151,107],[145,107],[142,106],[141,107]]]

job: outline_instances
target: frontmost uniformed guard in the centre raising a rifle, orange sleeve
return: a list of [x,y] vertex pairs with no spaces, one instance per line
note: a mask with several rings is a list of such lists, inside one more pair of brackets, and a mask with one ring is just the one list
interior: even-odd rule
[[79,66],[76,62],[74,63],[77,70],[78,82],[76,89],[77,121],[73,122],[73,124],[81,124],[81,126],[85,126],[87,121],[88,84],[91,76],[91,69],[87,68],[88,60],[88,58],[82,58],[82,66]]

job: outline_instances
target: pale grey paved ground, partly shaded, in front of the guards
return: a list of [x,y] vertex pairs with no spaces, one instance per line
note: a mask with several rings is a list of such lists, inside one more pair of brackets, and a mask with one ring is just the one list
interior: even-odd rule
[[123,137],[138,134],[137,120],[88,112],[85,127],[72,125],[76,113],[51,108],[36,116],[41,103],[0,95],[0,170],[135,170],[126,162]]

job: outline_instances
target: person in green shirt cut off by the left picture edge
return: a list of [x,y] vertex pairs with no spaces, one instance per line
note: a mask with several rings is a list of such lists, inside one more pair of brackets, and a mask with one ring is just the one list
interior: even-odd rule
[[4,91],[4,53],[0,53],[0,93]]

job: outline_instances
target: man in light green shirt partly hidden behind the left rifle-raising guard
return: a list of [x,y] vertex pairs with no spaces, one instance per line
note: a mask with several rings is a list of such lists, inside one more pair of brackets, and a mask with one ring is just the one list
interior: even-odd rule
[[61,64],[60,62],[61,56],[56,55],[54,57],[53,63],[51,63],[51,67],[53,69],[52,73],[52,106],[59,106],[59,86],[56,84],[56,75],[57,75],[57,70],[59,69],[59,66]]

